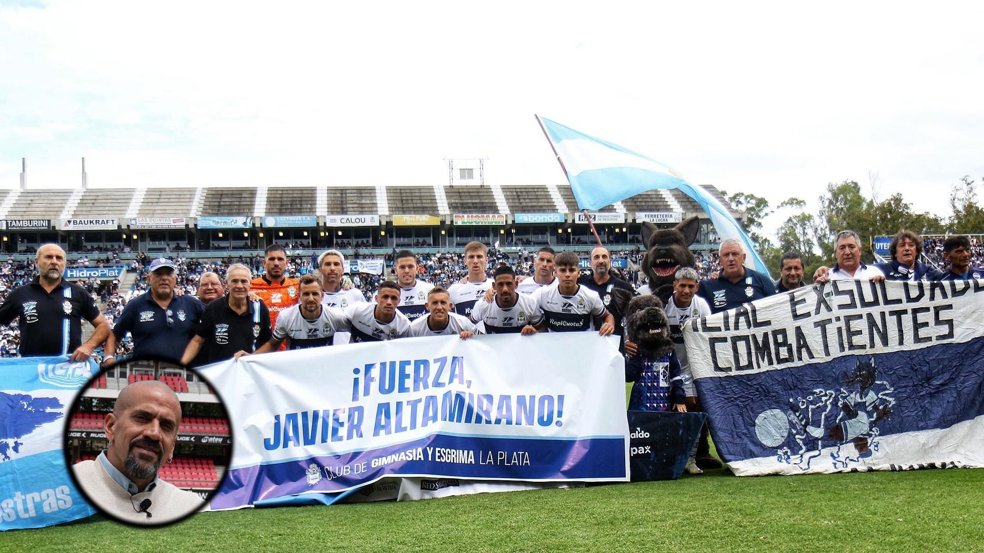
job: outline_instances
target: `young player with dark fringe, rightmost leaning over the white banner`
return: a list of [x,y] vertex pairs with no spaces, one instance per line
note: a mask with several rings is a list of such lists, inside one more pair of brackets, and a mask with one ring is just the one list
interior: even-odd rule
[[609,336],[615,331],[615,321],[605,309],[601,298],[594,290],[578,284],[578,254],[561,252],[557,254],[557,285],[543,286],[530,297],[543,310],[547,330],[551,333],[593,331],[593,317],[600,317],[603,323],[598,329],[601,336]]

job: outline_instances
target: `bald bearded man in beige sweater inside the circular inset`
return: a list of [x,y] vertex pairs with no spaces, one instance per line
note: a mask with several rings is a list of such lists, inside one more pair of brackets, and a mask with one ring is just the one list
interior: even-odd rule
[[135,382],[120,391],[104,422],[109,447],[95,461],[75,466],[76,481],[92,506],[121,522],[174,522],[204,507],[198,494],[157,477],[174,454],[181,403],[159,381]]

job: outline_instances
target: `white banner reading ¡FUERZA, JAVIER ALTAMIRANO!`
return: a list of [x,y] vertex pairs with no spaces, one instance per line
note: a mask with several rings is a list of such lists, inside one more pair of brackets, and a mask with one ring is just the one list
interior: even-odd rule
[[237,399],[233,458],[211,507],[388,476],[628,481],[617,345],[594,333],[400,338],[206,367]]

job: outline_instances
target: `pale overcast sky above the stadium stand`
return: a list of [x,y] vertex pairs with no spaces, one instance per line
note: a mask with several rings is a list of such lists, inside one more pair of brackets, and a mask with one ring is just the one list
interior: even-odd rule
[[[564,183],[537,113],[697,184],[946,215],[984,4],[0,0],[0,188]],[[681,6],[679,4],[686,4]],[[775,224],[778,221],[773,217]]]

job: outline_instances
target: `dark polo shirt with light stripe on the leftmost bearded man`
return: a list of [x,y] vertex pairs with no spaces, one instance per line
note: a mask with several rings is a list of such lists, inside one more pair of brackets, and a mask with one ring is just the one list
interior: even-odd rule
[[62,278],[51,293],[39,276],[19,286],[0,305],[0,325],[20,317],[21,355],[68,355],[82,345],[82,320],[94,321],[99,308],[86,288]]

